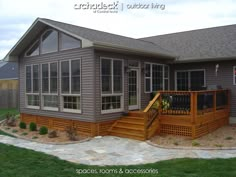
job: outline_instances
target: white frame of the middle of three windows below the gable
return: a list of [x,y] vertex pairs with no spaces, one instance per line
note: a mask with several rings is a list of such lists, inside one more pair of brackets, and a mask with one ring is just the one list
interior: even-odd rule
[[[52,62],[47,62],[47,63],[42,63],[41,64],[41,108],[42,110],[48,110],[48,111],[59,111],[59,95],[58,95],[58,89],[57,92],[51,92],[51,67],[50,65],[56,63],[57,64],[57,88],[59,87],[59,64],[58,61],[52,61]],[[48,65],[48,92],[44,93],[43,92],[43,65],[47,64]],[[58,107],[49,107],[49,106],[44,106],[44,96],[57,96],[58,100]]]

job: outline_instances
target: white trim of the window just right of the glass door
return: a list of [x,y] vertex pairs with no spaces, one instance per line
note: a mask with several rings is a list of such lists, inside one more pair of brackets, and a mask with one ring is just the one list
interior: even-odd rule
[[[146,69],[146,64],[149,64],[150,65],[150,77],[146,77],[145,76],[145,72],[144,72],[144,93],[152,93],[152,92],[156,92],[156,91],[153,91],[152,89],[152,66],[153,65],[158,65],[158,66],[162,66],[163,70],[162,70],[162,73],[163,73],[163,78],[162,78],[162,82],[163,82],[163,90],[165,89],[165,79],[168,79],[168,90],[170,88],[170,67],[169,65],[166,65],[166,64],[160,64],[160,63],[151,63],[151,62],[145,62],[144,63],[144,68]],[[165,77],[165,66],[168,67],[168,78]],[[144,71],[145,71],[144,69]],[[150,91],[146,91],[146,78],[147,79],[150,79]]]

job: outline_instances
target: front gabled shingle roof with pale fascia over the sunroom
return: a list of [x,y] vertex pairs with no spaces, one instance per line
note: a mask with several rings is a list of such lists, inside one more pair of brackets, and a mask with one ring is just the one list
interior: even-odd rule
[[30,45],[32,38],[35,38],[37,34],[40,34],[46,26],[50,26],[77,39],[81,39],[84,41],[84,44],[82,43],[82,45],[85,45],[84,47],[94,46],[95,48],[101,49],[143,53],[145,55],[162,56],[169,59],[175,58],[170,51],[165,50],[157,44],[149,41],[106,33],[49,19],[38,18],[17,42],[17,44],[10,50],[4,60],[17,60],[20,53]]

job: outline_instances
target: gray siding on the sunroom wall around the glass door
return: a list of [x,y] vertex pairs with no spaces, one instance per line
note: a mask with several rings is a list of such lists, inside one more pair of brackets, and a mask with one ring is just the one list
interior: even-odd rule
[[100,78],[100,58],[108,57],[108,58],[116,58],[122,59],[124,67],[128,66],[128,60],[136,60],[140,62],[140,77],[141,83],[139,88],[141,90],[141,109],[144,109],[150,101],[150,93],[144,93],[144,63],[145,62],[153,62],[153,63],[166,63],[166,60],[160,58],[152,58],[152,57],[144,57],[144,56],[136,56],[136,55],[128,55],[128,54],[120,54],[113,52],[105,52],[105,51],[95,51],[95,102],[96,102],[96,121],[106,121],[113,120],[121,117],[124,113],[127,113],[128,110],[128,73],[124,71],[124,110],[122,112],[117,113],[101,113],[101,78]]

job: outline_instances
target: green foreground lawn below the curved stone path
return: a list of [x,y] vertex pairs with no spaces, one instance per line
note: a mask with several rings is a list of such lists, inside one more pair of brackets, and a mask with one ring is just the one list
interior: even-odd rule
[[[87,166],[56,157],[0,143],[0,176],[6,177],[235,177],[236,158],[175,159],[135,166]],[[127,174],[125,170],[156,169],[158,174]],[[93,170],[97,174],[77,174],[76,170]],[[123,174],[119,174],[122,170]],[[108,173],[110,171],[110,173]],[[115,174],[115,172],[118,172]],[[113,172],[113,173],[112,173]],[[127,171],[126,171],[127,172]],[[108,173],[108,174],[106,174]]]

